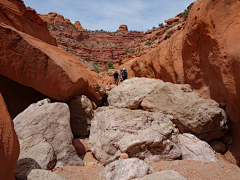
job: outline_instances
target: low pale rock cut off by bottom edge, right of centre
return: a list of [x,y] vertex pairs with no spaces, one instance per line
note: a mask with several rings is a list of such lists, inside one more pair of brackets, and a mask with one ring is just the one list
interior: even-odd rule
[[177,171],[165,170],[152,173],[142,178],[136,178],[134,180],[186,180],[186,179]]

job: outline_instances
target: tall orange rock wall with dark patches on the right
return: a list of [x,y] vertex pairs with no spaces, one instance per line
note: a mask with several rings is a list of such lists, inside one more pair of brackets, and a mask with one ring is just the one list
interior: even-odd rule
[[169,28],[149,53],[122,67],[130,77],[190,84],[206,99],[226,102],[232,120],[230,150],[240,160],[239,1],[198,0],[186,22]]

